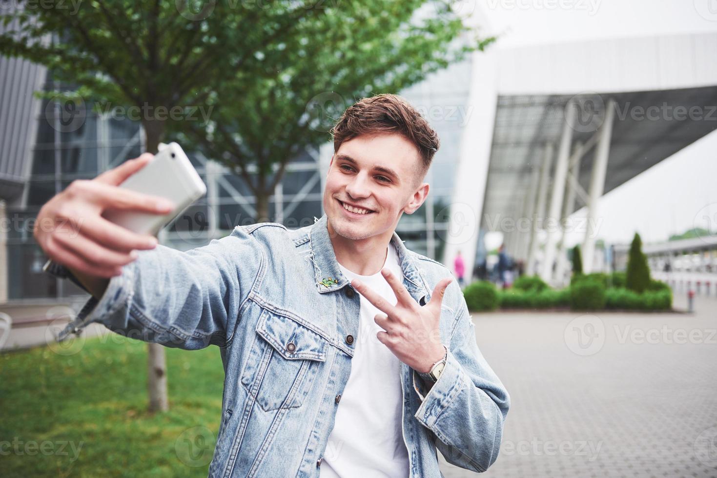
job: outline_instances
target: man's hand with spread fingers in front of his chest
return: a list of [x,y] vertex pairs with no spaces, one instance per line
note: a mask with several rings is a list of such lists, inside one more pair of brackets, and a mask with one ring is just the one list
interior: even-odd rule
[[385,330],[376,334],[379,341],[414,371],[427,373],[431,365],[441,360],[445,354],[439,326],[441,302],[446,287],[453,278],[441,279],[433,290],[430,302],[420,306],[399,277],[385,268],[381,269],[381,274],[394,290],[396,305],[386,302],[376,291],[358,279],[353,279],[351,285],[378,310],[384,312],[374,317],[376,324]]

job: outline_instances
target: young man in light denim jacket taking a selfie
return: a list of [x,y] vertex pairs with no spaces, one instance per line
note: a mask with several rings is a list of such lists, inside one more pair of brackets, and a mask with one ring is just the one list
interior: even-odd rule
[[189,252],[100,217],[165,211],[116,187],[146,156],[72,183],[37,224],[70,218],[80,239],[67,226],[35,233],[49,271],[94,296],[64,336],[100,322],[170,347],[218,345],[212,477],[439,477],[436,448],[483,472],[498,457],[508,393],[450,269],[395,232],[426,199],[437,135],[400,97],[379,95],[349,107],[333,138],[315,224],[237,226]]

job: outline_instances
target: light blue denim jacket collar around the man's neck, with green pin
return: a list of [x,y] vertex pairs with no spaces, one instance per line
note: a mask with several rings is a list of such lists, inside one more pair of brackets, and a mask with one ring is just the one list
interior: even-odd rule
[[[333,244],[331,244],[331,238],[328,235],[328,217],[326,214],[321,216],[321,219],[315,219],[309,231],[309,241],[318,292],[339,290],[347,285],[349,281],[341,272],[341,268],[338,267],[336,253],[333,252]],[[428,295],[429,291],[422,274],[416,267],[413,257],[409,254],[409,249],[404,245],[399,235],[396,234],[396,231],[391,236],[391,243],[394,244],[398,252],[404,278],[403,283],[406,289],[409,292],[416,292],[417,294],[412,294],[414,297]],[[324,284],[328,284],[328,287],[321,283],[323,279],[326,279]],[[332,279],[337,283],[334,284]]]

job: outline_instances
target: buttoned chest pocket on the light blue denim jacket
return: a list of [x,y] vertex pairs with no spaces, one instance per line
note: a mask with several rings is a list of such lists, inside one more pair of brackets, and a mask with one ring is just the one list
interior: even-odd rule
[[301,406],[326,361],[326,340],[269,310],[262,310],[256,332],[242,386],[264,411]]

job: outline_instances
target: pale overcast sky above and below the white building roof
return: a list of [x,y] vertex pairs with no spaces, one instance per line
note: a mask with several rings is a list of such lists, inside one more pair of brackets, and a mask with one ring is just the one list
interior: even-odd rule
[[[480,4],[490,30],[500,33],[500,48],[717,32],[717,0],[481,0]],[[606,194],[598,216],[602,219],[599,237],[609,244],[630,242],[635,231],[643,242],[664,241],[670,234],[706,226],[707,217],[717,230],[717,131]],[[569,246],[582,239],[581,234],[569,236]]]

